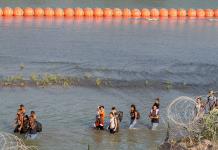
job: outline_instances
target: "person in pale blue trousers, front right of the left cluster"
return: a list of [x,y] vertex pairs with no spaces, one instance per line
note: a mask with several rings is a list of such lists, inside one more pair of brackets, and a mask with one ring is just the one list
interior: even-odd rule
[[33,116],[29,117],[29,129],[26,134],[27,139],[35,139],[37,137],[37,124]]

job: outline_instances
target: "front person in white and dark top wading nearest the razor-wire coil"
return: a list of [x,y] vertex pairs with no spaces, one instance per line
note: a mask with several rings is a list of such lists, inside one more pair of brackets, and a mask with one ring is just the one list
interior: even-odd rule
[[159,109],[157,109],[157,106],[153,106],[151,109],[151,112],[149,114],[149,118],[151,119],[151,129],[156,130],[156,128],[159,125]]

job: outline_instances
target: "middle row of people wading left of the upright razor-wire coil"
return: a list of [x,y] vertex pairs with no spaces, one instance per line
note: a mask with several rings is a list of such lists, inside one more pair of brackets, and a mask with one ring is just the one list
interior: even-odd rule
[[[159,119],[160,119],[159,107],[160,107],[160,98],[158,97],[155,100],[154,104],[152,105],[151,111],[149,113],[149,118],[151,119],[151,129],[152,130],[155,130],[159,125]],[[130,115],[129,129],[134,129],[138,120],[140,119],[140,113],[136,109],[136,105],[132,104],[130,106],[129,115]],[[119,131],[120,123],[123,119],[123,112],[118,111],[116,107],[112,107],[111,112],[109,113],[109,118],[110,118],[110,122],[109,122],[107,129],[110,131],[111,134],[114,134]],[[105,127],[104,120],[105,120],[105,110],[104,110],[104,106],[101,105],[101,106],[98,106],[97,108],[96,121],[95,121],[94,127],[96,129],[103,130]]]

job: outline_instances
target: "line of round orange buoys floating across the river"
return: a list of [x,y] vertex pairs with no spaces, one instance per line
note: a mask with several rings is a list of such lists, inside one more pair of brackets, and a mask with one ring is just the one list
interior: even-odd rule
[[129,8],[0,8],[0,16],[55,17],[218,17],[218,9]]

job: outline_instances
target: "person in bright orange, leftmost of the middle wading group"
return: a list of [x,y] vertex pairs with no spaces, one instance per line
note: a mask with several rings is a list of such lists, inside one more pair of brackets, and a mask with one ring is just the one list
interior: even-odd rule
[[105,111],[104,106],[99,106],[96,115],[95,127],[97,129],[103,130],[104,129],[104,118],[105,118]]

